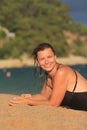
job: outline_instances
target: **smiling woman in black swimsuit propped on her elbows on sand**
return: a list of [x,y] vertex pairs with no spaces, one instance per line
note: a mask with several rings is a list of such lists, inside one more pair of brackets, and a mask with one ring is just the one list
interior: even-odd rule
[[22,94],[9,105],[64,106],[87,111],[87,80],[69,66],[56,62],[56,54],[48,43],[39,44],[33,51],[34,60],[46,72],[46,80],[39,94]]

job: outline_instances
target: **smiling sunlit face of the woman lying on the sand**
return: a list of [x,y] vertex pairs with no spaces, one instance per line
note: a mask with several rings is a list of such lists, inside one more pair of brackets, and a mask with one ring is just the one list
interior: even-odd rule
[[37,61],[42,69],[49,72],[56,64],[56,56],[54,55],[51,48],[46,48],[37,53]]

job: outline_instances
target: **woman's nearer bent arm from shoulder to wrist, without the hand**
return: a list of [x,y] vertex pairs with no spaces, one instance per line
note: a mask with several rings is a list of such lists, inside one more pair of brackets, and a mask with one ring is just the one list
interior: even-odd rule
[[51,93],[50,99],[47,98],[46,100],[30,100],[29,104],[31,105],[50,105],[50,106],[60,106],[66,89],[68,85],[68,74],[67,69],[61,68],[55,75],[53,81],[53,91]]

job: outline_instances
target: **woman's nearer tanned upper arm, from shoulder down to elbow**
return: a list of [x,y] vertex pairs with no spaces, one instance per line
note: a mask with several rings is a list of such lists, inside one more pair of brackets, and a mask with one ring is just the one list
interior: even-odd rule
[[50,102],[53,106],[60,106],[69,83],[68,70],[66,67],[60,68],[56,76],[54,77],[54,89]]

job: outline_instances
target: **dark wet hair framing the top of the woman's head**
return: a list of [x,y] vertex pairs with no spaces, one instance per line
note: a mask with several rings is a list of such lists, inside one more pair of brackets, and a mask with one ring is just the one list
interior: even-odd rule
[[47,48],[50,48],[51,50],[52,50],[52,52],[54,53],[54,55],[55,55],[55,50],[54,50],[54,48],[52,47],[52,45],[51,44],[49,44],[49,43],[40,43],[39,45],[37,45],[37,47],[33,50],[33,56],[34,56],[34,61],[36,61],[37,60],[37,53],[39,52],[39,51],[43,51],[43,50],[45,50],[45,49],[47,49]]

